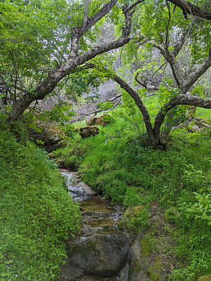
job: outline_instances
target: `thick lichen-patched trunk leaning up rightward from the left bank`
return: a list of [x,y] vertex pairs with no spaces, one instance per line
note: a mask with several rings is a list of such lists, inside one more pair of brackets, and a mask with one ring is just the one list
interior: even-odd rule
[[[117,0],[111,0],[109,1],[108,6],[107,4],[104,5],[104,7],[100,10],[103,11],[103,14],[107,11],[110,11]],[[106,7],[106,8],[105,8]],[[102,13],[99,14],[97,12],[97,16],[95,15],[91,18],[93,19],[92,22],[95,22],[96,19],[100,20],[102,18]],[[90,26],[90,20],[88,20],[88,27]],[[76,67],[79,65],[83,65],[83,63],[86,63],[88,60],[95,58],[96,55],[100,55],[102,53],[105,53],[107,51],[110,51],[114,48],[118,48],[121,46],[124,46],[130,41],[130,37],[128,35],[130,34],[130,26],[131,26],[131,17],[128,15],[128,13],[125,13],[125,25],[123,26],[123,34],[122,36],[115,40],[111,41],[109,43],[104,43],[101,46],[95,46],[86,53],[83,53],[81,55],[78,55],[77,53],[74,53],[72,57],[70,57],[66,63],[61,65],[61,67],[53,72],[49,72],[48,77],[45,81],[42,81],[41,84],[36,86],[36,89],[34,89],[33,93],[28,91],[25,93],[24,96],[22,96],[19,100],[17,100],[17,103],[15,103],[13,107],[13,112],[11,112],[11,115],[9,119],[11,121],[15,121],[20,118],[22,113],[25,111],[25,109],[32,103],[34,100],[43,100],[45,96],[53,91],[55,89],[55,86],[57,83],[67,76],[69,73],[72,72]],[[88,27],[86,30],[88,30]],[[84,30],[83,30],[84,31]],[[79,31],[78,34],[80,34],[81,31]],[[83,33],[83,32],[82,32]],[[75,51],[76,49],[74,49]]]

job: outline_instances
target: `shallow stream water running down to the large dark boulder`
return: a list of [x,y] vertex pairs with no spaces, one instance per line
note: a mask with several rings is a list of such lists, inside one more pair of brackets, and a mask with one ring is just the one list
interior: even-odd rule
[[81,206],[83,236],[90,233],[117,233],[117,224],[123,215],[121,208],[112,206],[109,200],[97,195],[95,190],[81,182],[78,172],[66,169],[61,169],[60,172],[66,178],[69,195]]

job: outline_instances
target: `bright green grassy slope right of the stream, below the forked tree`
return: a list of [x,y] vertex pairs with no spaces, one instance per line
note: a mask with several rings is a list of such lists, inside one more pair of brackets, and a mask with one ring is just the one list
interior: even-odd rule
[[[115,115],[115,122],[100,128],[99,135],[76,136],[70,147],[55,154],[113,202],[124,207],[158,202],[176,227],[170,235],[183,265],[170,280],[192,281],[211,273],[210,131],[177,129],[166,150],[152,150],[144,147],[129,121]],[[137,125],[142,128],[141,122]],[[145,215],[139,218],[139,230],[148,226]]]

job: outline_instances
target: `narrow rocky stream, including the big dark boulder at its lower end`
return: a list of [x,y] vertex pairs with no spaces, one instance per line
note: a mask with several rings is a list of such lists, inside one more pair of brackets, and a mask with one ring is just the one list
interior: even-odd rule
[[79,173],[67,169],[60,172],[66,177],[69,195],[79,202],[83,216],[81,234],[67,242],[60,280],[127,281],[132,238],[118,232],[122,209],[81,182]]

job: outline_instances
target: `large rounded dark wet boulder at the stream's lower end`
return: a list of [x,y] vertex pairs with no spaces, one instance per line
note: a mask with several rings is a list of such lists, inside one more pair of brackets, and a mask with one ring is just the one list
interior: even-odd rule
[[67,263],[83,270],[85,275],[111,277],[125,264],[131,242],[126,233],[81,237],[78,241],[68,242]]

